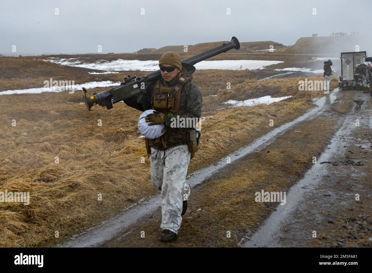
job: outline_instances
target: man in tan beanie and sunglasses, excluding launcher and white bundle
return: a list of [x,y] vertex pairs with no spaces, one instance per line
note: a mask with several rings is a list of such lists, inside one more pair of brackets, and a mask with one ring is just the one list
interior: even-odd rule
[[[195,152],[190,135],[195,134],[193,139],[196,139],[198,133],[192,129],[172,128],[171,118],[176,115],[201,118],[202,96],[191,81],[195,67],[181,64],[178,53],[164,53],[159,66],[161,78],[147,86],[142,99],[137,102],[136,97],[131,97],[124,102],[140,111],[156,110],[145,118],[149,126],[165,124],[163,135],[155,139],[146,138],[145,142],[147,152],[151,154],[151,181],[161,191],[161,240],[171,241],[176,238],[182,222],[181,216],[187,209],[190,186],[186,184],[186,174],[191,152]],[[200,134],[196,145],[199,144],[199,138]]]

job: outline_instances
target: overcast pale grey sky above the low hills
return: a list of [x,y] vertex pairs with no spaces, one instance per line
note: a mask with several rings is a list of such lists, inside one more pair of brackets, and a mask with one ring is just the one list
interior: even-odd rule
[[359,31],[372,40],[371,0],[0,0],[0,4],[0,53],[5,55],[13,53],[13,45],[16,54],[97,52],[98,45],[103,53],[118,53],[232,36],[241,42],[293,45],[314,32],[329,36],[336,31]]

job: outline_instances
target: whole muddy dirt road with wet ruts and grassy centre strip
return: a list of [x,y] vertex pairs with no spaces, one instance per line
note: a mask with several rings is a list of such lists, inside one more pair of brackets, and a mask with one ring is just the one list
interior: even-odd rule
[[[191,174],[176,241],[159,240],[160,195],[154,195],[60,246],[371,246],[371,98],[336,89],[315,104]],[[261,191],[285,192],[285,205],[256,202]]]

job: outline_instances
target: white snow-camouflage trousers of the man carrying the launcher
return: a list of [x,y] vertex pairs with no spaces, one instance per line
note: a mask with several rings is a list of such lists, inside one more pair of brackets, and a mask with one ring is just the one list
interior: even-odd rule
[[187,145],[178,145],[167,150],[151,147],[151,181],[161,191],[161,225],[163,230],[178,233],[182,222],[182,202],[190,195],[186,184],[190,163]]

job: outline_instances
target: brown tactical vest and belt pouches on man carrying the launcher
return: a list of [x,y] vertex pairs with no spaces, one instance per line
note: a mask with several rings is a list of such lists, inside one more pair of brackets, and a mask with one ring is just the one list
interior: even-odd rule
[[[173,114],[173,115],[180,115],[185,114],[186,110],[181,110],[181,93],[183,90],[183,86],[186,82],[191,81],[192,75],[190,76],[181,76],[178,79],[178,83],[176,86],[166,87],[163,83],[160,82],[160,79],[158,79],[155,82],[155,87],[153,91],[153,97],[152,97],[152,104],[153,109],[156,111],[159,111],[163,114]],[[154,141],[161,142],[163,144],[163,147],[167,147],[167,143],[173,142],[174,139],[186,139],[187,146],[189,147],[189,152],[195,154],[195,152],[198,150],[198,144],[199,144],[199,138],[196,139],[193,134],[195,134],[195,130],[191,129],[194,132],[191,132],[190,129],[184,128],[184,129],[171,129],[171,128],[164,128],[163,130],[166,130],[165,133],[156,138]],[[149,145],[150,139],[145,138],[146,142],[146,149],[147,153],[151,154],[151,148]]]

